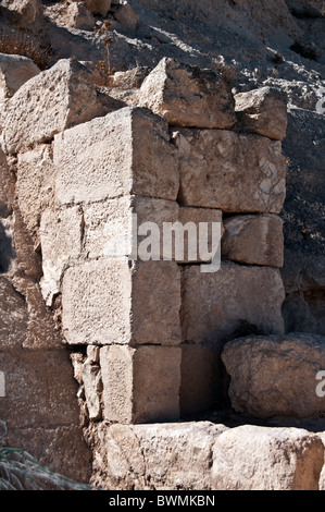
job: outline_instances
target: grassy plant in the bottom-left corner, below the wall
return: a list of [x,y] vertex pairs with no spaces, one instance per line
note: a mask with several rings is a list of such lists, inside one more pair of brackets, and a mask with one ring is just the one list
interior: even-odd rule
[[92,490],[51,472],[24,450],[0,447],[0,490]]

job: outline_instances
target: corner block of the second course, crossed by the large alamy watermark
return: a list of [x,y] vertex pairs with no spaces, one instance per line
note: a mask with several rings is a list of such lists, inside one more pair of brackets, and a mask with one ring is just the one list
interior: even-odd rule
[[84,206],[85,253],[89,258],[133,254],[141,260],[210,263],[212,244],[218,242],[212,223],[222,233],[221,210],[178,208],[174,200],[125,196],[93,203]]

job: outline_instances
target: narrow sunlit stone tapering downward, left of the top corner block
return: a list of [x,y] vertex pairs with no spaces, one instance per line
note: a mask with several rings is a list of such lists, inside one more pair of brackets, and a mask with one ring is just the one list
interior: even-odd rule
[[16,194],[20,210],[35,245],[39,242],[42,211],[49,207],[53,194],[53,161],[51,146],[42,144],[17,157]]

